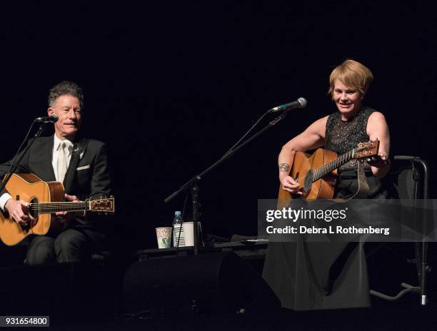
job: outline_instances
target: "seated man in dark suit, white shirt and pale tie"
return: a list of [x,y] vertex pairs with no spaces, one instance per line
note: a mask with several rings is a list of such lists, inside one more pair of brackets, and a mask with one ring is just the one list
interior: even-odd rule
[[[17,173],[34,173],[44,181],[60,181],[66,188],[66,201],[101,198],[111,193],[106,148],[104,143],[79,138],[84,115],[84,96],[73,82],[62,81],[49,92],[49,115],[56,114],[55,134],[36,138],[22,158]],[[9,170],[11,161],[0,165],[0,178]],[[6,191],[0,193],[0,208],[16,223],[26,225],[29,203],[14,200]],[[57,235],[31,238],[26,263],[77,262],[89,258],[103,235],[96,231],[90,217],[59,212],[56,217],[68,220],[66,230]]]

